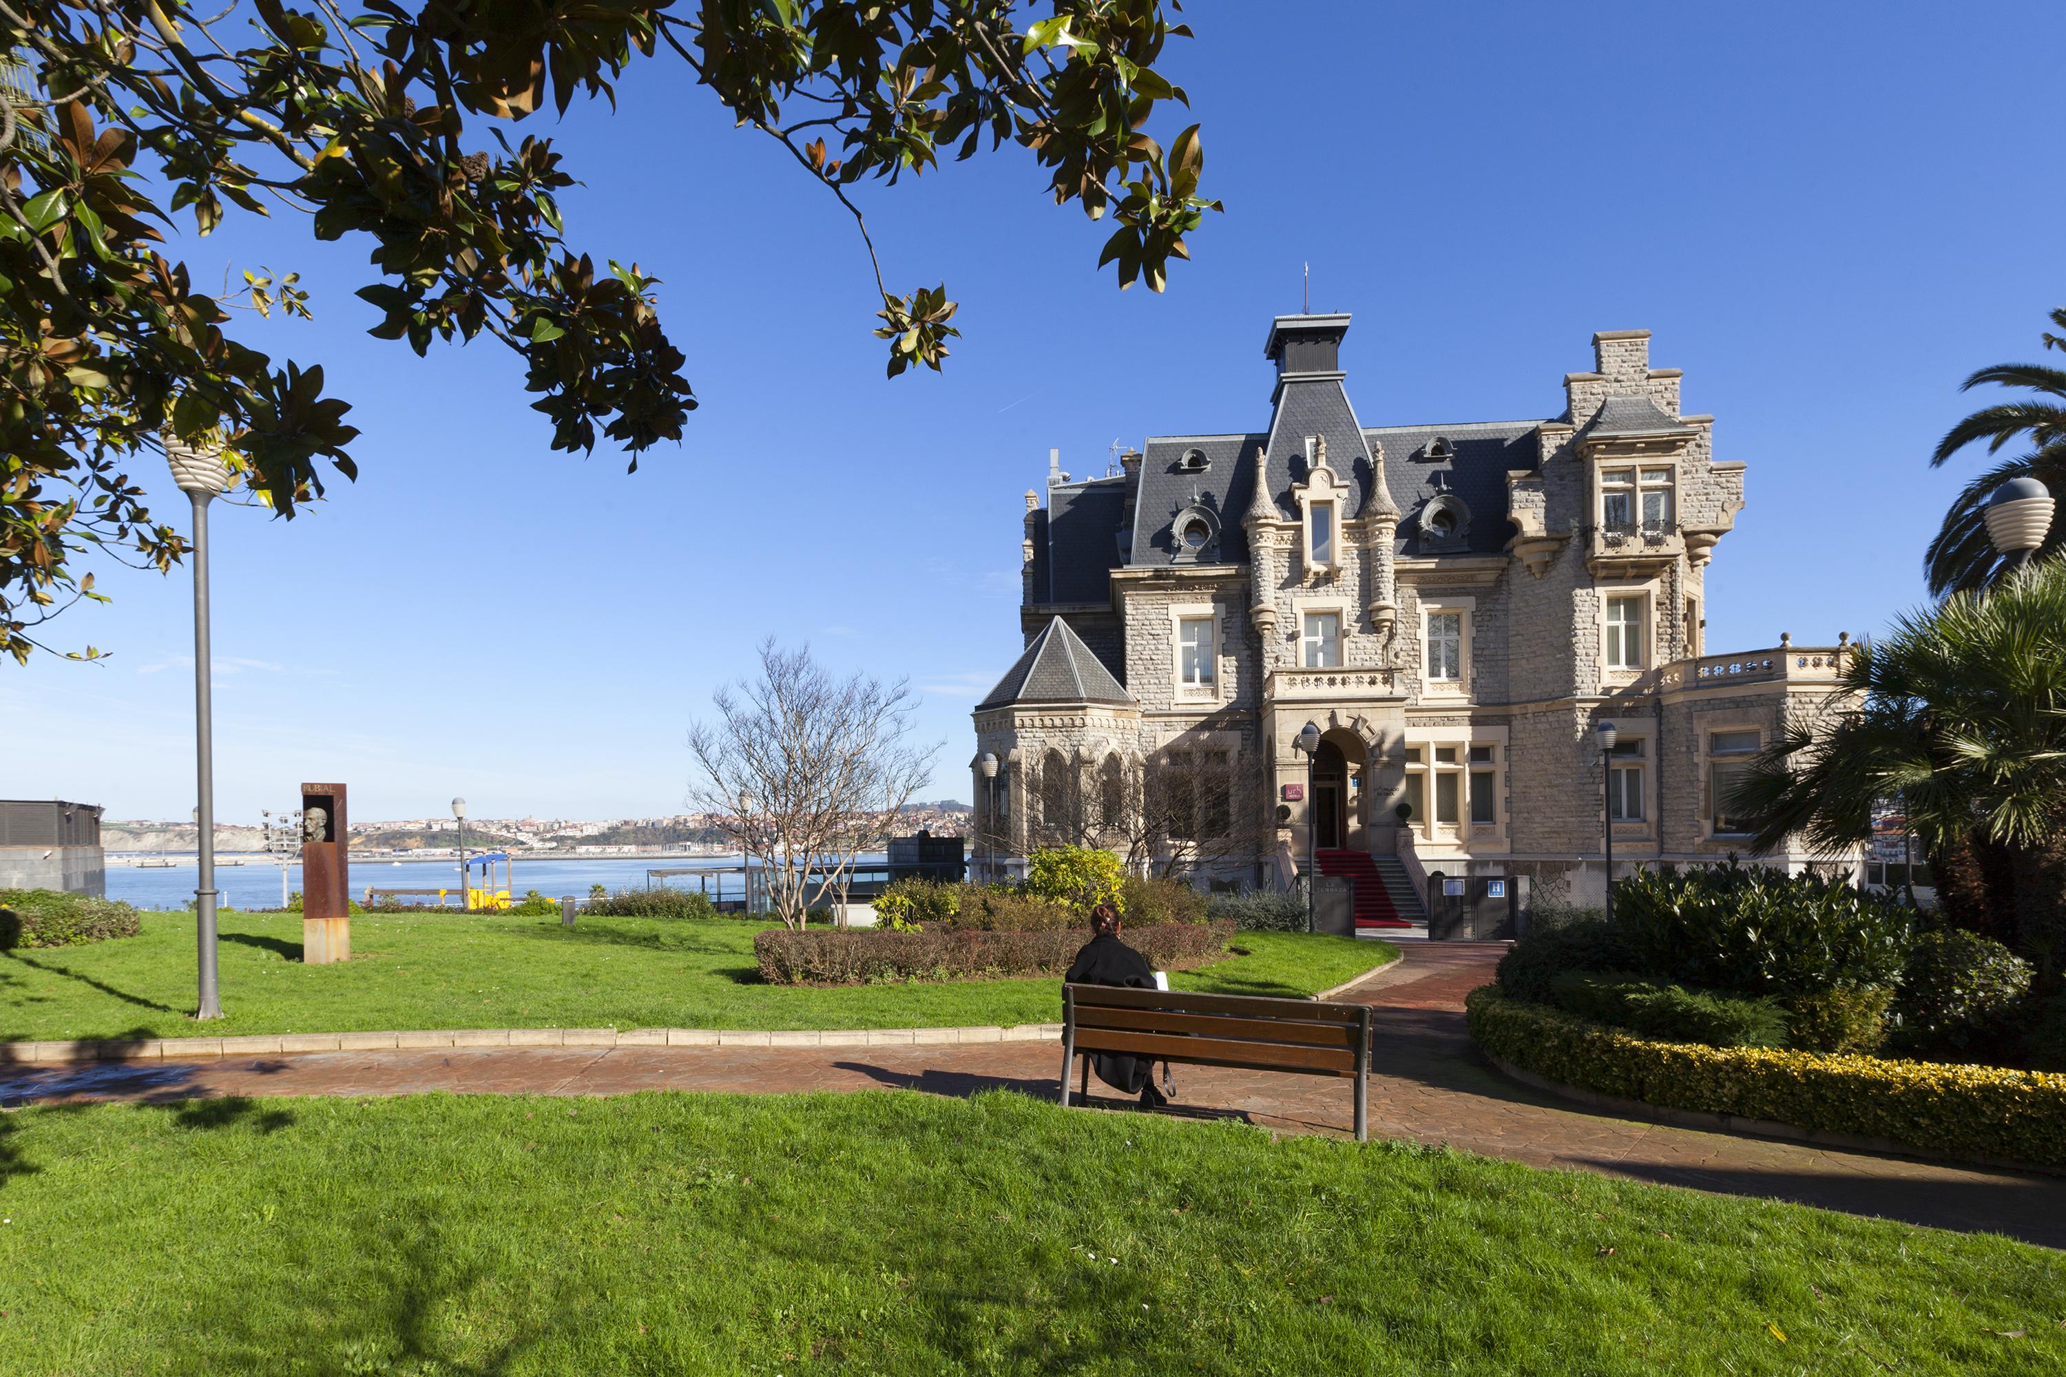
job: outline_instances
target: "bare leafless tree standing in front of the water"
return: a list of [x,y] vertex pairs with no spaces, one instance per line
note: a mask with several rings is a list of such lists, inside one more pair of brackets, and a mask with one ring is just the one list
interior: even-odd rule
[[760,863],[769,902],[802,929],[841,898],[864,851],[876,851],[911,795],[932,778],[940,745],[909,741],[909,681],[835,679],[810,646],[760,642],[760,677],[711,694],[715,720],[688,729],[702,778],[690,807]]

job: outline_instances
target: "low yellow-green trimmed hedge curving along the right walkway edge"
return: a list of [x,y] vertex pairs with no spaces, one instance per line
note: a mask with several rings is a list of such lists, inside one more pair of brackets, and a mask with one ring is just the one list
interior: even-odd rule
[[1762,1047],[1651,1043],[1498,987],[1465,999],[1471,1038],[1560,1086],[1911,1148],[2066,1166],[2066,1076]]

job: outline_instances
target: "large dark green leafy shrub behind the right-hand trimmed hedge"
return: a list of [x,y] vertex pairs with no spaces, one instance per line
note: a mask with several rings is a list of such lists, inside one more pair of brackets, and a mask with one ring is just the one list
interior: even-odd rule
[[1820,875],[1762,865],[1638,871],[1614,886],[1634,970],[1735,995],[1892,989],[1915,910]]

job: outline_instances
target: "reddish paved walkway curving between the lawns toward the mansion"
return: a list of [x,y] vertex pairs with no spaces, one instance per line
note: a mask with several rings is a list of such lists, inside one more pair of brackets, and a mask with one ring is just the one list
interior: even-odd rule
[[[1771,1195],[2066,1247],[2066,1179],[1818,1148],[1618,1119],[1521,1086],[1479,1059],[1463,995],[1492,979],[1492,943],[1407,943],[1405,960],[1343,999],[1376,1010],[1370,1133],[1450,1144],[1731,1195]],[[628,1090],[870,1090],[1052,1096],[1054,1043],[756,1049],[450,1049],[221,1057],[0,1069],[0,1102],[182,1100],[244,1094],[624,1094]],[[1345,1133],[1345,1082],[1178,1067],[1180,1109],[1281,1131]],[[1097,1094],[1093,1092],[1093,1100]],[[1103,1100],[1116,1102],[1116,1100]]]

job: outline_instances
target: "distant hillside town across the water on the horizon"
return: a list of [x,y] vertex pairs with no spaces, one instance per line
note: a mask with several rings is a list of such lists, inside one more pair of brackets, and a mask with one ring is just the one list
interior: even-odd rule
[[[969,826],[969,805],[957,799],[909,803],[897,818],[897,832],[930,830],[957,836]],[[731,846],[721,818],[674,813],[669,818],[467,818],[467,848],[508,848],[583,857],[645,855],[655,851],[711,851]],[[401,818],[349,824],[355,851],[446,853],[459,848],[455,818]],[[107,851],[196,851],[192,822],[103,820]],[[264,851],[264,832],[254,824],[217,824],[219,851]]]

